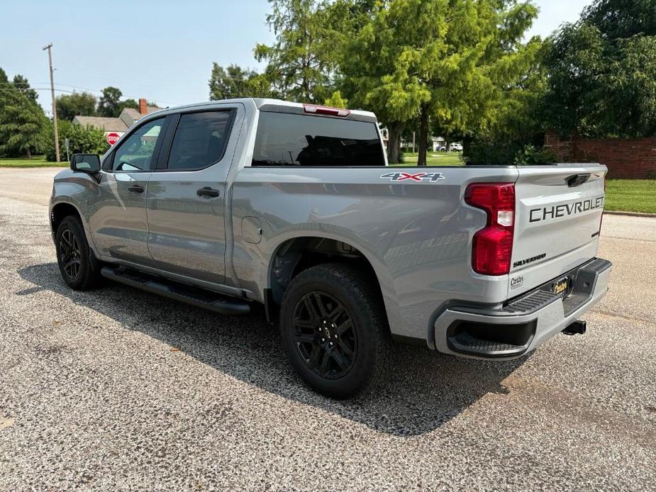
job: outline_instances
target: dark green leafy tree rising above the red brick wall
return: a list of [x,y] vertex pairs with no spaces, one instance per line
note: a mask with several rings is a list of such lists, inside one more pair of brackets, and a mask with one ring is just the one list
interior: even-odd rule
[[597,0],[547,40],[543,117],[560,133],[656,134],[656,9]]

